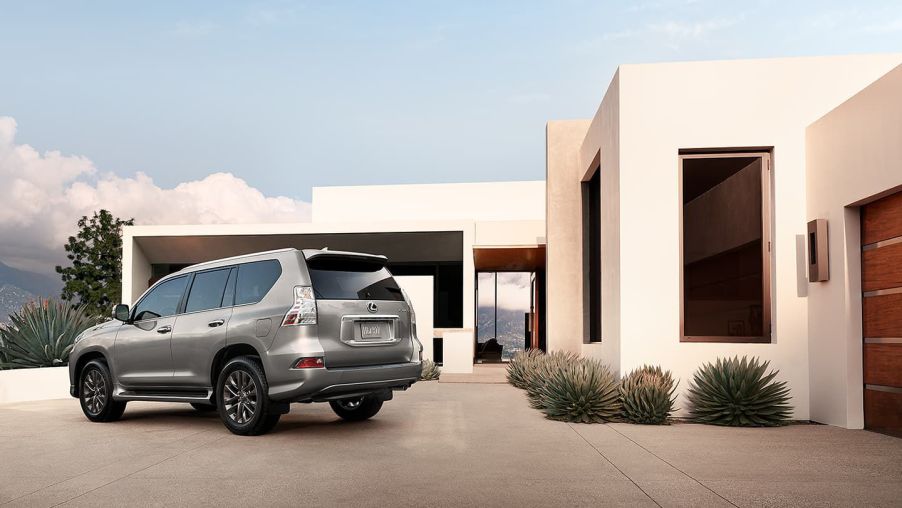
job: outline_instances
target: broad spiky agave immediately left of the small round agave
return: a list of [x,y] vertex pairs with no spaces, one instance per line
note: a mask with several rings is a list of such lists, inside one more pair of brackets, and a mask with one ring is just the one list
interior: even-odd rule
[[608,422],[620,414],[617,388],[611,369],[596,359],[581,358],[550,371],[538,399],[552,420]]

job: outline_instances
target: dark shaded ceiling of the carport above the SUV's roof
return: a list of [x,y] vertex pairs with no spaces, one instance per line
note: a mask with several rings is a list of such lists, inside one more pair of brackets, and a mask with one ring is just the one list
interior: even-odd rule
[[192,264],[252,252],[296,249],[347,250],[388,256],[389,262],[463,259],[463,233],[312,233],[294,235],[144,236],[135,241],[150,263]]

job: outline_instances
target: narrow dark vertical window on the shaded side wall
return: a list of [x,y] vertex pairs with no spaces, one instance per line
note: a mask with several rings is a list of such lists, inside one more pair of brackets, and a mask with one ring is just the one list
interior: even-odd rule
[[582,183],[583,342],[601,342],[601,169]]

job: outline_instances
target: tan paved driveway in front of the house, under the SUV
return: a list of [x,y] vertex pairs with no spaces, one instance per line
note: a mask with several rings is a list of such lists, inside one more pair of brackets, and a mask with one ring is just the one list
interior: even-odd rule
[[74,399],[0,406],[10,506],[900,506],[902,440],[820,425],[568,425],[498,384],[420,383],[375,419],[297,405],[272,434],[189,406],[88,423]]

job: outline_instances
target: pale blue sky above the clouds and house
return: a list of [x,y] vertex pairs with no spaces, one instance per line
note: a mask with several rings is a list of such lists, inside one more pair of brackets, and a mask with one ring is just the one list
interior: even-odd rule
[[619,63],[902,51],[902,2],[3,2],[16,140],[161,187],[540,179]]

